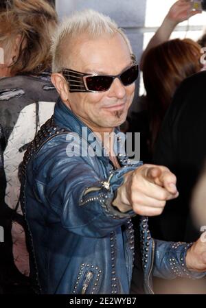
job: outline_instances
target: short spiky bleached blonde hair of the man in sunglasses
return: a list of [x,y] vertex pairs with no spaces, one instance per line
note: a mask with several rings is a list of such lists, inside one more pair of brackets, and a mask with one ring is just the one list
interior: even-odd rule
[[[94,10],[83,10],[75,12],[67,17],[54,34],[52,43],[52,71],[60,72],[68,66],[68,54],[73,40],[80,34],[88,34],[90,38],[98,38],[102,35],[113,36],[119,33],[130,50],[133,53],[130,42],[123,30],[118,28],[115,21]],[[65,49],[67,48],[67,52]]]

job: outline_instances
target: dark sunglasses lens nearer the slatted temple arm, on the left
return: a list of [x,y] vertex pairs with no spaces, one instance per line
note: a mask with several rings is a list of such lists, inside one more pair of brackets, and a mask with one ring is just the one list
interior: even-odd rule
[[89,90],[103,92],[110,88],[113,78],[110,76],[88,76],[86,82]]

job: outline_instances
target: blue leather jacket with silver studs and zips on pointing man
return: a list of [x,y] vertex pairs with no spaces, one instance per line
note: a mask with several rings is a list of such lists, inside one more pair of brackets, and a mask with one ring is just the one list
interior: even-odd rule
[[[185,268],[188,244],[152,239],[146,217],[139,218],[134,237],[135,213],[111,205],[124,174],[140,163],[120,151],[122,168],[115,170],[108,156],[91,154],[93,144],[82,127],[58,99],[54,117],[38,132],[21,168],[21,206],[38,292],[129,294],[133,276],[131,292],[152,293],[152,273],[170,279],[192,275]],[[95,145],[96,153],[104,150]]]

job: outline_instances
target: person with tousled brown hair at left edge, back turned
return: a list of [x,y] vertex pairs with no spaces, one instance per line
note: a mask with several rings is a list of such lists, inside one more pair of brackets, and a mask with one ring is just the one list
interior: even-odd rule
[[0,285],[5,293],[30,292],[18,169],[27,145],[54,110],[57,93],[50,78],[50,47],[57,24],[56,11],[45,0],[4,1],[1,5],[0,217],[7,240],[0,244]]

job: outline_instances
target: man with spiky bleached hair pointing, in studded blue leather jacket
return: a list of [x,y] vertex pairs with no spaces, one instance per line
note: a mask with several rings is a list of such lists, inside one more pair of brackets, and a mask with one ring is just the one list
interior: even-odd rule
[[60,97],[21,167],[37,292],[128,294],[135,249],[132,292],[152,293],[152,273],[203,276],[201,243],[156,241],[147,217],[133,234],[133,216],[159,215],[179,193],[169,169],[132,163],[122,150],[116,127],[138,76],[128,38],[108,17],[86,10],[62,23],[52,51]]

